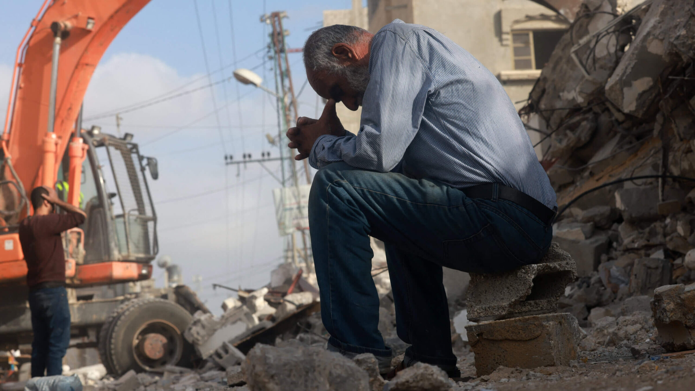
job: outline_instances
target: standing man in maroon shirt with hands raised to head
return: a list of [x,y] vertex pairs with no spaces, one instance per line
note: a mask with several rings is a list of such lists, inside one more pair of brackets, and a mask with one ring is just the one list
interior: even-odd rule
[[[84,223],[82,209],[58,198],[44,186],[31,191],[33,216],[19,224],[19,242],[26,260],[26,285],[34,340],[31,377],[63,373],[63,356],[70,344],[70,307],[65,291],[65,254],[60,233]],[[57,214],[56,205],[65,210]]]

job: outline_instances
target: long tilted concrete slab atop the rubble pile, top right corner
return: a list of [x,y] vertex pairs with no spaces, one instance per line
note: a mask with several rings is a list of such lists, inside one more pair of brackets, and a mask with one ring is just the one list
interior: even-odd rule
[[655,0],[605,83],[605,96],[623,113],[637,117],[651,113],[660,95],[662,72],[673,64],[674,55],[692,54],[695,24],[687,23],[692,15],[683,12],[683,7],[681,1]]

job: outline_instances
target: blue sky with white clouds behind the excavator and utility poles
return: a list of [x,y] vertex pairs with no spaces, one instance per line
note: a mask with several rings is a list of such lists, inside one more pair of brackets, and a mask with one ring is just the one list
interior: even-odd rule
[[[41,3],[3,1],[0,107],[7,102],[17,45]],[[284,19],[284,27],[290,31],[288,46],[301,47],[321,23],[322,10],[350,8],[351,2],[234,0],[233,19],[229,4],[227,0],[197,0],[210,70],[233,63],[234,43],[237,58],[246,58],[238,67],[257,66],[255,72],[265,76],[266,85],[274,89],[270,62],[264,70],[265,51],[259,51],[267,43],[268,28],[259,22],[264,6],[268,13],[288,13],[289,18]],[[298,91],[306,75],[301,54],[290,56]],[[232,70],[229,67],[224,73],[214,73],[210,80],[227,78]],[[194,1],[152,0],[124,27],[99,63],[85,96],[85,118],[161,95],[185,83],[190,83],[186,89],[203,86],[208,83],[205,74]],[[237,96],[242,97],[239,102]],[[313,90],[305,88],[298,100],[300,115],[313,117],[318,102]],[[223,108],[218,118],[210,115],[181,128],[211,112],[213,106]],[[4,109],[0,116],[4,116]],[[245,288],[265,285],[281,256],[282,240],[272,207],[272,189],[278,184],[259,166],[248,165],[238,171],[225,167],[223,155],[250,152],[259,157],[267,150],[277,156],[277,147],[265,139],[266,133],[277,134],[275,102],[262,91],[232,80],[212,91],[206,88],[124,113],[122,118],[122,131],[135,135],[142,154],[159,161],[160,178],[150,183],[159,218],[160,255],[170,255],[180,264],[184,282],[194,289],[192,276],[202,276],[199,294],[214,312],[221,312],[220,303],[227,293],[213,292],[213,282]],[[86,120],[84,126],[90,125],[101,125],[104,131],[115,134],[115,118]],[[279,170],[277,163],[268,167]],[[155,270],[155,276],[161,274],[161,269]]]

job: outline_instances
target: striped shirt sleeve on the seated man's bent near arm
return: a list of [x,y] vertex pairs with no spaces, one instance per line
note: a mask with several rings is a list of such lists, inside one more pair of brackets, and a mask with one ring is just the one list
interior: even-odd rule
[[374,36],[371,53],[359,133],[320,136],[309,155],[313,168],[345,161],[386,173],[399,165],[415,138],[432,86],[430,74],[411,46],[391,31]]

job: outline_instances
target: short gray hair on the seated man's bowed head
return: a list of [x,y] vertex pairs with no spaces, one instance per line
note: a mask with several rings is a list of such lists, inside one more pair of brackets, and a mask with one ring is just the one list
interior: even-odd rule
[[307,70],[324,71],[328,74],[344,75],[347,70],[333,55],[336,43],[354,45],[366,38],[365,29],[357,26],[334,24],[318,29],[304,43],[304,66]]

